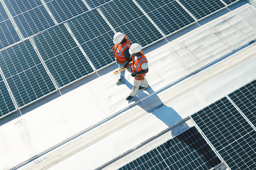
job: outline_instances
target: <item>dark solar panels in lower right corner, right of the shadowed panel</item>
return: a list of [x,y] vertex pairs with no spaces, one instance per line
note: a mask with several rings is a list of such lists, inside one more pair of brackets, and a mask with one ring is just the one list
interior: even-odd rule
[[191,117],[231,170],[253,170],[256,167],[256,80],[228,97],[242,113],[224,97]]

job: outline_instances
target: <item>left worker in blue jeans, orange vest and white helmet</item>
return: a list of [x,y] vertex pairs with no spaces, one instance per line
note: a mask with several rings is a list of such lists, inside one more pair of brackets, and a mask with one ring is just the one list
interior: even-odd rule
[[[130,60],[130,42],[128,38],[123,33],[115,33],[113,38],[114,46],[110,49],[110,51],[114,51],[114,56],[116,60],[116,64],[119,68],[124,66],[124,62]],[[120,79],[116,82],[116,84],[121,84],[124,81],[125,69],[120,72]]]

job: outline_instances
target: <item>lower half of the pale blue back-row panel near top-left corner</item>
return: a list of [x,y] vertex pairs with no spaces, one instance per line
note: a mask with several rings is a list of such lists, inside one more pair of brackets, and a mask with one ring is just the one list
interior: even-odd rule
[[13,19],[23,38],[30,37],[55,25],[43,5],[15,16]]

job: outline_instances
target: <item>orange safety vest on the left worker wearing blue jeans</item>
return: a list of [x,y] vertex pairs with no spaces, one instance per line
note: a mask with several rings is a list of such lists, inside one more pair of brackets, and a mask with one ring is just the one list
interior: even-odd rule
[[[124,35],[124,37],[126,37]],[[118,59],[119,61],[122,61],[122,62],[125,62],[126,61],[126,58],[124,57],[124,51],[127,49],[127,48],[130,48],[131,47],[131,44],[128,40],[128,38],[126,37],[126,42],[123,43],[123,44],[116,44],[115,45],[115,50],[114,50],[114,55],[116,57],[116,59]]]

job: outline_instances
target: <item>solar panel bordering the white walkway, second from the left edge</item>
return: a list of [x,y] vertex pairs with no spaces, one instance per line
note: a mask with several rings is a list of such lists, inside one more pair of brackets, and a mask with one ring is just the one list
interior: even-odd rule
[[18,107],[56,90],[29,39],[0,51],[0,67]]

